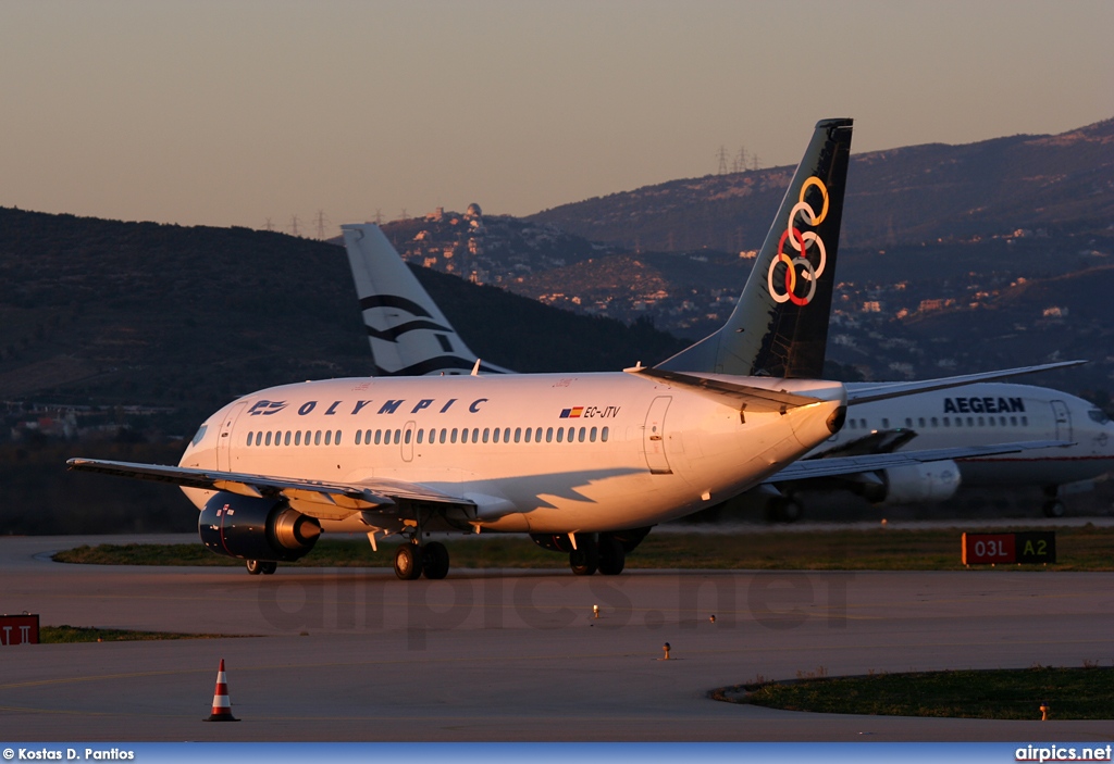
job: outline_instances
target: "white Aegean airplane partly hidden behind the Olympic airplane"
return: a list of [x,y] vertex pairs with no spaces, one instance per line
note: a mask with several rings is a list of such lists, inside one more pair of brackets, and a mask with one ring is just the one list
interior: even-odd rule
[[[467,374],[480,363],[377,226],[342,228],[377,375]],[[768,276],[773,272],[768,270]],[[770,276],[766,290],[775,291],[776,286],[776,279]],[[741,376],[769,373],[761,347],[743,344],[746,338],[763,337],[768,323],[765,316],[751,323],[734,320],[732,329],[717,331],[697,346],[704,354],[705,346],[719,341],[726,349],[719,351],[719,358],[694,359],[697,350],[691,348],[662,367],[715,369]],[[812,338],[811,358],[799,360],[795,370],[786,376],[820,377],[823,350],[821,339]],[[508,373],[487,363],[481,364],[481,369]],[[851,393],[886,387],[857,383],[847,386]],[[849,403],[856,403],[853,396]],[[807,458],[1034,439],[1066,440],[1071,445],[958,462],[917,463],[836,478],[781,480],[763,485],[762,493],[769,494],[765,500],[773,518],[792,522],[801,516],[804,497],[811,490],[849,489],[874,504],[890,505],[942,502],[960,485],[1032,486],[1044,492],[1045,514],[1058,517],[1064,514],[1063,487],[1085,486],[1114,470],[1114,425],[1102,409],[1047,387],[1000,383],[860,403],[849,410],[847,426]]]

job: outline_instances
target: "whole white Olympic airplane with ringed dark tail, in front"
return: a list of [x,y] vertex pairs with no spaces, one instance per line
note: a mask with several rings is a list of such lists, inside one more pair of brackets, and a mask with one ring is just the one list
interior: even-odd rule
[[[469,375],[283,385],[213,414],[177,467],[69,466],[182,486],[201,509],[202,542],[247,560],[250,573],[302,557],[322,532],[361,532],[373,548],[387,535],[408,539],[394,570],[412,579],[449,570],[446,547],[424,543],[428,530],[528,533],[567,553],[577,574],[617,574],[651,526],[779,474],[1053,445],[798,462],[840,430],[849,400],[839,383],[789,377],[823,351],[850,145],[851,120],[817,125],[721,337],[658,367],[490,375],[473,364]],[[766,376],[720,368],[740,340],[756,348]],[[907,383],[866,398],[970,380]]]

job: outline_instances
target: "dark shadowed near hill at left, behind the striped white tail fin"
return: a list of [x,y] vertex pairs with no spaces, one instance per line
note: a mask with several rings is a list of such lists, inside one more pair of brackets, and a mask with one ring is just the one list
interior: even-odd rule
[[[472,349],[509,368],[610,370],[678,349],[646,324],[417,274]],[[146,414],[182,433],[244,393],[371,368],[344,251],[330,244],[0,209],[0,278],[9,419],[31,401],[141,405],[173,409]]]

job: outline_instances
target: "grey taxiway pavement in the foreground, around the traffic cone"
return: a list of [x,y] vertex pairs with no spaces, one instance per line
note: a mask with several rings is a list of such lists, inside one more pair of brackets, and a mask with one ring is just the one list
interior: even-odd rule
[[[0,538],[0,612],[228,635],[0,647],[0,741],[1114,738],[1110,722],[801,714],[707,697],[756,677],[1108,665],[1114,574],[456,569],[403,583],[389,568],[248,576],[50,560],[86,543],[187,539]],[[202,721],[221,658],[237,724]]]

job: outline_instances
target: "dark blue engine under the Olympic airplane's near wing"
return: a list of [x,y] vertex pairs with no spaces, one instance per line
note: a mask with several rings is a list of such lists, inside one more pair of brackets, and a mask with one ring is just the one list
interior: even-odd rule
[[221,555],[292,563],[317,543],[321,524],[282,500],[221,492],[202,509],[197,534]]

